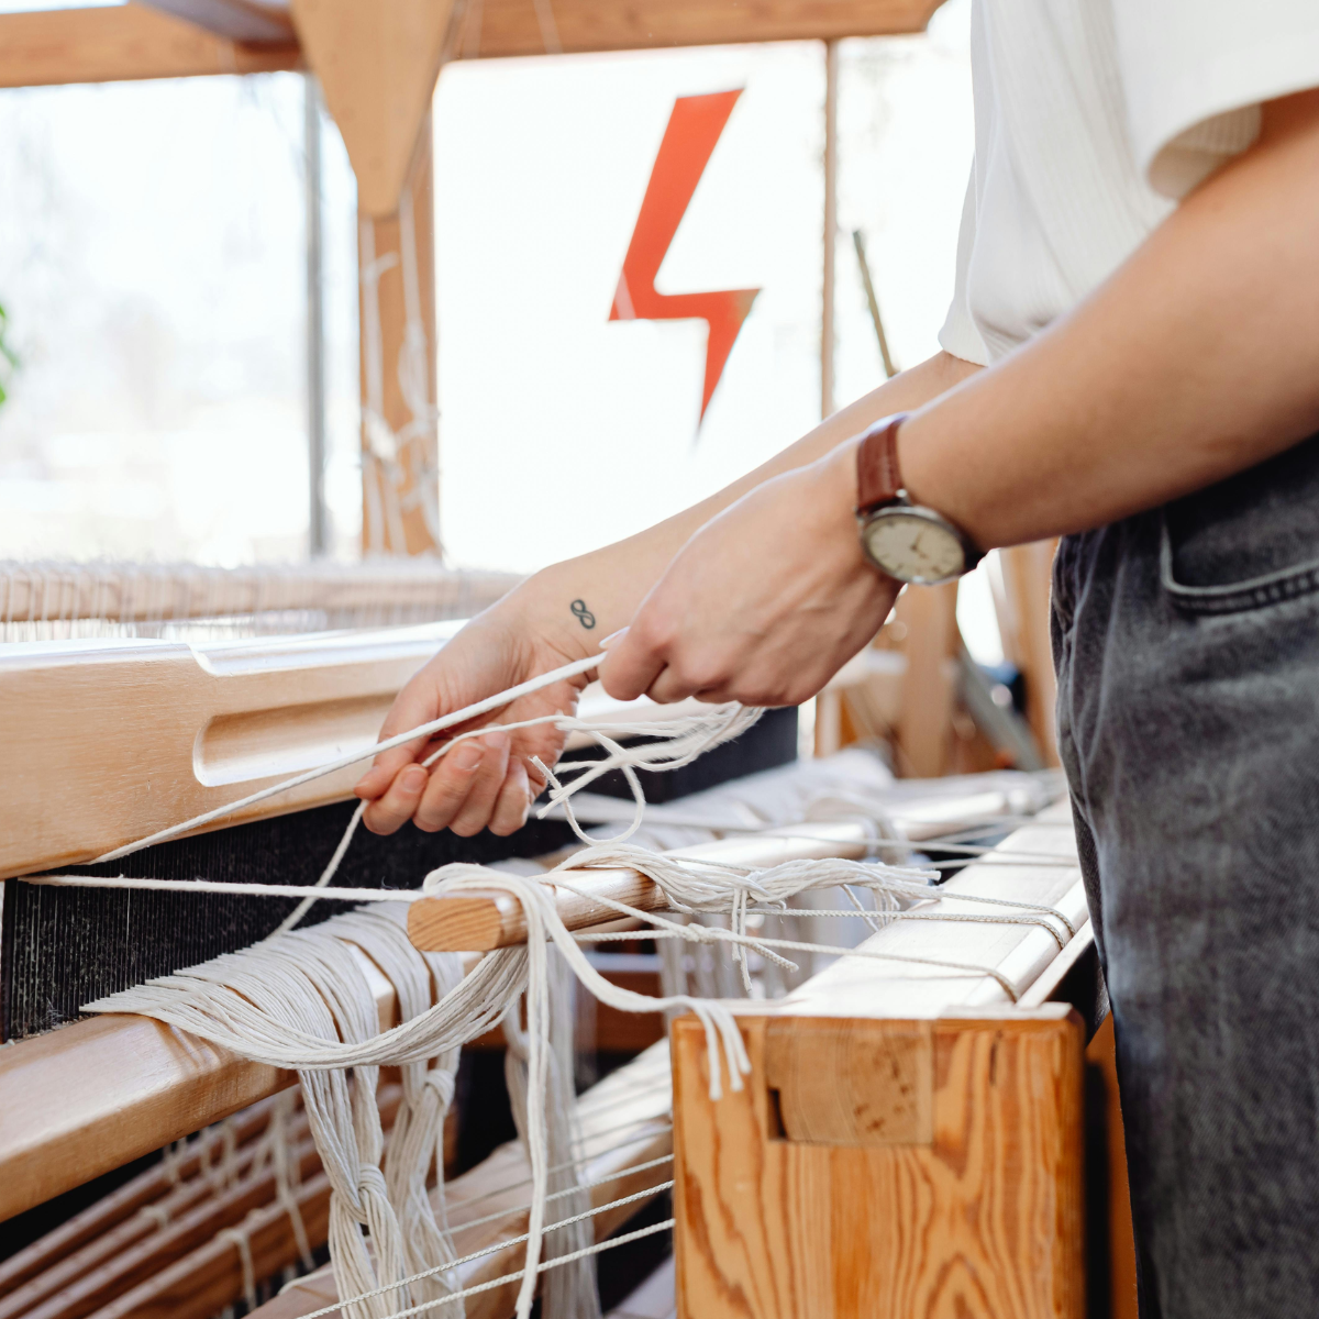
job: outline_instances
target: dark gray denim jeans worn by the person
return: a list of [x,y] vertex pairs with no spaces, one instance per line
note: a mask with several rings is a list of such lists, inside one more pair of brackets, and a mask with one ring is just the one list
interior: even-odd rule
[[1063,541],[1145,1319],[1319,1315],[1319,437]]

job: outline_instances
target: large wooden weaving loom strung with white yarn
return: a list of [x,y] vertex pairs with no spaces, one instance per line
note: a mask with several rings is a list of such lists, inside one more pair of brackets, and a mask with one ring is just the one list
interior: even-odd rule
[[[158,8],[170,13],[127,5],[51,20],[3,16],[0,82],[305,65],[319,73],[328,108],[344,127],[361,208],[365,549],[418,553],[439,549],[427,204],[429,96],[438,65],[554,46],[919,30],[934,3],[823,11],[793,4],[769,12],[733,0],[689,9],[646,0],[640,17],[629,11],[620,28],[609,7],[484,0],[413,7],[415,22],[406,30],[361,24],[351,4],[214,0]],[[356,7],[357,17],[365,12]],[[179,13],[191,21],[181,22]],[[84,50],[82,63],[51,71],[47,51],[63,44],[49,40],[47,21],[80,32],[95,25],[91,55]],[[826,150],[835,162],[827,166],[827,191],[836,191],[836,142],[834,148]],[[826,285],[832,289],[832,277]],[[532,1179],[537,1159],[546,1161],[546,1142],[551,1166],[542,1169],[541,1207],[549,1231],[538,1256],[546,1319],[596,1312],[596,1262],[605,1304],[630,1291],[636,1277],[619,1286],[619,1274],[656,1262],[670,1216],[678,1252],[674,1299],[689,1319],[725,1312],[843,1319],[873,1312],[881,1295],[885,1312],[897,1319],[940,1307],[960,1312],[959,1304],[996,1319],[1079,1314],[1080,1028],[1064,1009],[1038,1006],[1051,995],[1092,1006],[1092,959],[1074,873],[1054,859],[1067,831],[1053,820],[1025,826],[1005,847],[1033,851],[1034,861],[1014,877],[993,869],[981,878],[969,867],[952,881],[950,892],[963,894],[956,902],[929,892],[894,897],[864,885],[855,892],[834,885],[795,893],[802,909],[795,913],[754,910],[743,892],[732,913],[720,898],[674,917],[671,894],[648,872],[653,865],[675,884],[695,877],[708,885],[712,876],[747,877],[801,863],[832,865],[838,877],[852,873],[838,871],[839,863],[878,855],[901,867],[914,847],[935,843],[939,864],[955,871],[1043,805],[1045,785],[1026,776],[893,782],[867,752],[794,765],[793,711],[768,712],[736,741],[677,772],[642,773],[652,806],[632,843],[652,859],[619,853],[612,868],[559,876],[555,919],[576,931],[590,969],[604,977],[605,996],[596,1002],[578,989],[574,1005],[571,979],[553,969],[558,960],[551,963],[542,1006],[550,1017],[545,1042],[550,1070],[558,1071],[551,1078],[558,1112],[543,1120],[543,1136],[528,1115],[537,1092],[530,1008],[524,1025],[516,995],[503,1021],[491,1020],[495,1029],[464,1038],[459,1066],[466,1071],[454,1070],[456,1054],[447,1050],[386,1072],[379,1088],[373,1064],[355,1066],[342,1093],[338,1082],[326,1082],[326,1093],[339,1093],[340,1107],[352,1108],[352,1121],[339,1128],[314,1112],[321,1103],[315,1076],[305,1076],[303,1093],[293,1088],[288,1067],[253,1060],[212,1037],[124,1010],[82,1016],[94,1001],[113,1009],[116,993],[146,993],[144,983],[153,977],[198,964],[215,968],[215,959],[265,939],[295,902],[15,877],[58,871],[92,884],[121,873],[245,888],[314,882],[352,818],[346,797],[356,769],[309,781],[123,861],[79,863],[348,749],[368,748],[393,694],[456,628],[438,620],[475,612],[509,584],[496,574],[415,565],[276,574],[0,567],[0,641],[24,642],[0,656],[7,752],[0,877],[11,877],[0,909],[0,1038],[8,1042],[0,1049],[0,1242],[8,1253],[15,1237],[51,1229],[0,1262],[0,1319],[210,1319],[232,1315],[235,1307],[265,1319],[322,1311],[384,1319],[418,1306],[441,1316],[508,1319],[520,1294],[524,1308],[529,1301],[521,1270],[541,1204]],[[863,656],[861,677],[855,683],[840,678],[822,698],[819,749],[832,752],[849,740],[851,725],[886,739],[907,774],[983,768],[993,762],[985,753],[995,749],[1028,764],[1020,752],[1029,737],[992,703],[981,702],[972,729],[980,737],[979,758],[968,760],[972,737],[963,737],[960,725],[956,739],[948,735],[954,714],[964,714],[959,686],[976,711],[968,686],[973,667],[963,665],[960,679],[950,677],[950,665],[962,662],[954,600],[948,592],[907,592],[897,623],[910,630],[905,648],[882,645]],[[1025,654],[1012,658],[1024,671],[1047,669],[1047,656],[1037,653],[1033,663]],[[1035,703],[1031,727],[1046,745],[1046,685],[1031,679],[1028,690]],[[648,720],[699,711],[660,711],[646,703],[620,710],[588,691],[580,712],[600,727],[621,720],[634,733]],[[570,756],[592,757],[590,743],[575,735]],[[600,822],[613,835],[632,820],[620,776],[592,783],[591,794],[575,798],[583,824]],[[562,814],[533,819],[512,839],[462,840],[412,828],[380,839],[359,831],[334,885],[359,893],[413,890],[450,863],[495,863],[505,874],[534,876],[576,843]],[[1000,867],[1013,855],[1004,851],[981,865]],[[343,1020],[355,1014],[359,1035],[425,1017],[433,1000],[438,1009],[447,987],[462,989],[491,964],[481,954],[503,950],[516,958],[525,946],[525,904],[509,892],[481,893],[479,877],[470,880],[475,889],[406,907],[368,906],[368,917],[346,915],[342,901],[311,909],[306,925],[321,933],[299,948],[319,950],[323,964],[334,962],[331,979],[338,977],[339,988],[353,985],[344,996],[352,1001],[336,1010]],[[1008,904],[996,907],[1006,922],[960,919],[988,914],[976,901],[985,896],[973,892],[980,888]],[[624,915],[619,904],[638,914]],[[1021,904],[1060,914],[1028,911]],[[936,909],[956,919],[940,922]],[[413,944],[425,950],[417,956],[401,940],[405,914]],[[699,942],[661,936],[663,927],[649,931],[646,919],[677,919]],[[741,931],[740,944],[721,940],[733,927]],[[331,954],[317,939],[332,939],[334,931],[343,938]],[[867,955],[838,960],[856,946]],[[885,951],[929,960],[915,969],[917,963],[871,956]],[[383,960],[397,963],[393,975],[383,971]],[[948,962],[962,968],[951,977]],[[736,1020],[743,1043],[733,1047],[725,1031],[716,1058],[710,1034],[715,1009],[699,1021],[671,1010],[670,1068],[666,1018],[623,1010],[609,1001],[613,991],[620,1001],[624,991],[698,1004],[735,1000],[735,1018],[725,1013],[719,1021],[732,1029]],[[1014,995],[1018,1002],[1009,1006]],[[522,997],[529,1004],[530,989]],[[117,1000],[117,1006],[128,1001]],[[956,1020],[959,1010],[976,1017]],[[339,1017],[328,1029],[348,1039]],[[572,1070],[574,1035],[583,1050],[576,1087],[565,1075]],[[642,1045],[648,1047],[638,1051]],[[739,1049],[745,1050],[745,1075]],[[605,1064],[634,1057],[590,1084],[595,1050]],[[951,1074],[948,1059],[956,1063]],[[721,1079],[719,1099],[711,1093],[715,1075]],[[960,1115],[966,1149],[979,1148],[975,1138],[988,1133],[1005,1153],[979,1183],[954,1178],[950,1184],[938,1177],[958,1153],[948,1146],[958,1116],[950,1075],[969,1087],[963,1093],[979,1087],[976,1093],[989,1100]],[[1004,1075],[1031,1084],[1004,1087],[1010,1103],[1000,1101],[995,1087]],[[574,1088],[582,1093],[574,1097]],[[483,1141],[491,1134],[484,1111],[496,1099],[512,1109],[508,1126]],[[346,1113],[343,1107],[339,1116]],[[415,1149],[406,1153],[422,1128],[421,1144],[429,1149],[421,1157]],[[514,1129],[517,1137],[505,1140]],[[381,1258],[392,1249],[384,1241],[388,1232],[377,1241],[375,1229],[368,1242],[373,1254],[347,1258],[356,1248],[340,1232],[339,1257],[324,1262],[324,1245],[335,1236],[335,1195],[342,1202],[346,1194],[335,1183],[343,1169],[336,1171],[327,1130],[344,1144],[388,1141],[383,1163],[373,1146],[367,1162],[381,1165],[408,1237],[393,1262]],[[156,1162],[133,1163],[162,1149]],[[727,1154],[716,1155],[716,1149]],[[748,1177],[752,1165],[758,1171]],[[894,1177],[898,1165],[906,1171]],[[459,1169],[459,1175],[446,1175]],[[915,1212],[900,1194],[906,1173],[904,1184],[931,1187],[923,1199],[915,1196]],[[91,1183],[107,1194],[71,1212],[70,1198],[102,1174],[115,1187]],[[929,1256],[885,1253],[889,1224],[909,1217],[951,1223],[981,1207],[988,1221],[1004,1196],[1022,1188],[1035,1192],[1030,1206],[1054,1204],[1055,1216],[1028,1213],[973,1249],[952,1232]],[[712,1231],[710,1206],[719,1208],[720,1231]],[[558,1225],[554,1220],[565,1215],[576,1221]],[[1013,1249],[1018,1229],[1038,1233],[1033,1250]],[[598,1246],[608,1249],[591,1253]],[[565,1258],[571,1256],[580,1258]],[[868,1272],[856,1268],[857,1260],[871,1261]],[[952,1278],[942,1290],[925,1281],[940,1268],[943,1278]],[[379,1295],[363,1295],[373,1290],[363,1281],[364,1269],[383,1270],[394,1282],[408,1274],[412,1290],[386,1282]],[[611,1269],[613,1283],[605,1277]],[[904,1279],[905,1290],[894,1279]],[[276,1294],[282,1282],[290,1286]],[[455,1293],[462,1299],[452,1299]],[[988,1311],[985,1297],[993,1301]],[[442,1303],[427,1308],[437,1301]]]

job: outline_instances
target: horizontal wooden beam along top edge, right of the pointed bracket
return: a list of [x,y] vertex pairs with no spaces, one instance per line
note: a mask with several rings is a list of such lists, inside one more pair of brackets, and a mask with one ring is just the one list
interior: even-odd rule
[[721,46],[923,32],[942,0],[553,0],[553,32],[536,0],[468,5],[462,58],[654,46]]

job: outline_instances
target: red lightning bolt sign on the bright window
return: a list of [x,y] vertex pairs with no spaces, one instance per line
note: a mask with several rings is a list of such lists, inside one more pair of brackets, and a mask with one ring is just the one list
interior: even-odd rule
[[687,321],[699,318],[710,327],[706,339],[706,384],[700,415],[706,415],[724,363],[756,301],[760,289],[725,289],[720,293],[656,293],[656,276],[669,252],[678,226],[691,203],[700,175],[710,164],[741,95],[721,91],[710,96],[679,96],[673,103],[669,127],[650,170],[641,200],[637,227],[623,260],[619,289],[609,309],[611,321]]

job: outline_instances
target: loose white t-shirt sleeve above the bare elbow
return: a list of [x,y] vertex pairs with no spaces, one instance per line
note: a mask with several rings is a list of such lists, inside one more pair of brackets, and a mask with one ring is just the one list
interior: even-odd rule
[[1178,200],[1260,132],[1260,104],[1319,87],[1319,0],[1113,0],[1142,175]]

